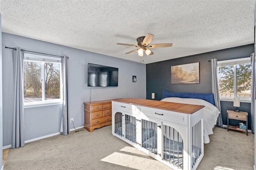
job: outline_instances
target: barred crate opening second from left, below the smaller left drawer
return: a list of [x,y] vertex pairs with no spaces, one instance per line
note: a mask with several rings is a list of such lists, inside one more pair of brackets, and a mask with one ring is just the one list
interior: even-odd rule
[[125,115],[125,138],[136,143],[136,118]]

